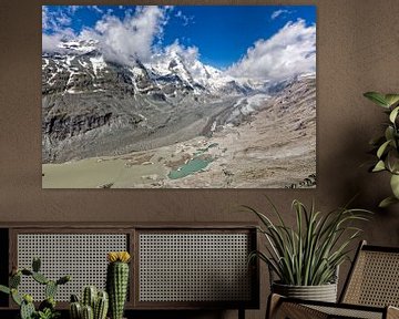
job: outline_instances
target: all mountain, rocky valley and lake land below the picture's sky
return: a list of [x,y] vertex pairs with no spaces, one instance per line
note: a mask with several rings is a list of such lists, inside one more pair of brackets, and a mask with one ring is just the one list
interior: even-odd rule
[[174,52],[120,65],[63,45],[42,56],[43,187],[314,186],[314,74],[270,85]]

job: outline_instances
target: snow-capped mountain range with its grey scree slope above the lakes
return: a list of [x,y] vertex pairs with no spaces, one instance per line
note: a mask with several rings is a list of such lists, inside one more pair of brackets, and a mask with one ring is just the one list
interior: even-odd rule
[[124,154],[238,125],[286,88],[236,79],[168,50],[108,61],[93,40],[42,54],[42,161]]

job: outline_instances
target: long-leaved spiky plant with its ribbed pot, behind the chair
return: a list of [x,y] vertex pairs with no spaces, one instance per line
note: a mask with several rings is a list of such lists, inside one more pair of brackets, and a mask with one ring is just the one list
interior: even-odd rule
[[269,203],[278,223],[252,207],[244,207],[262,223],[258,230],[266,239],[265,251],[253,251],[249,257],[266,263],[270,274],[275,275],[270,276],[272,292],[335,302],[338,267],[348,258],[349,244],[361,231],[351,224],[367,220],[370,212],[344,207],[321,214],[316,212],[314,204],[308,209],[299,200],[294,200],[296,225],[293,228]]

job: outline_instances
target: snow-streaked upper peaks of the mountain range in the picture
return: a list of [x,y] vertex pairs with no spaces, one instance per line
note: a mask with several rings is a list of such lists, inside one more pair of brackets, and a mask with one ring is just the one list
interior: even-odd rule
[[[151,62],[132,60],[130,65],[106,62],[93,40],[61,42],[58,52],[43,54],[42,71],[43,93],[108,90],[104,84],[106,86],[108,74],[113,72],[125,90],[155,94],[163,100],[175,96],[178,91],[222,95],[258,90],[250,81],[234,79],[198,60],[186,61],[173,50],[152,56]],[[176,90],[172,90],[172,85]]]

